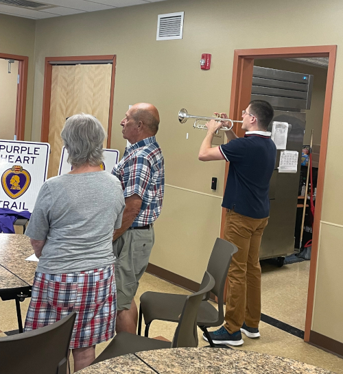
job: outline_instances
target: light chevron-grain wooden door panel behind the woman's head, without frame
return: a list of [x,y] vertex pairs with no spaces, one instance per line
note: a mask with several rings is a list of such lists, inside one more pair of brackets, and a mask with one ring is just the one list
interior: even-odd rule
[[111,73],[112,64],[52,66],[48,178],[58,174],[63,145],[60,133],[67,117],[78,113],[91,114],[108,132]]

